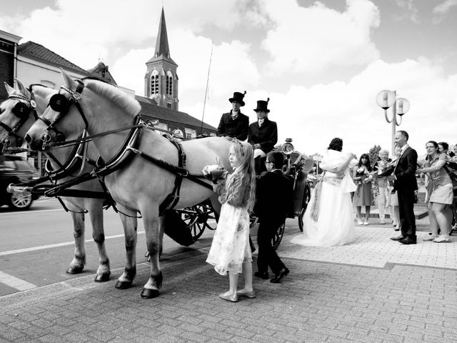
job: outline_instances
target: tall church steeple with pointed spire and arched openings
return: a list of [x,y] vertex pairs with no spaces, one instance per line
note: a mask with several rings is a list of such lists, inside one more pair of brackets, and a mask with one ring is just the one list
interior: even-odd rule
[[162,7],[156,51],[154,51],[154,56],[146,62],[144,96],[154,99],[159,106],[177,110],[179,102],[177,67],[178,64],[171,59],[164,8]]

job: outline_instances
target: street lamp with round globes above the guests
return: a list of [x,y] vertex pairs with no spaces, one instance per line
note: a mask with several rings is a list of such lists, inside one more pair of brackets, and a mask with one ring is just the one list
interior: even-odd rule
[[[388,91],[384,89],[376,96],[376,104],[384,110],[384,116],[388,123],[392,123],[392,154],[395,151],[395,126],[400,126],[403,114],[409,109],[409,101],[405,98],[398,98],[396,91]],[[388,119],[387,109],[392,107],[392,119]],[[397,119],[397,114],[400,119]]]

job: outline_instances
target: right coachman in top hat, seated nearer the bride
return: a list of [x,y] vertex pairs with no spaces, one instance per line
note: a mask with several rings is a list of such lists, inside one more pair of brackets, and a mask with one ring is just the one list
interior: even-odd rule
[[[262,166],[260,165],[261,157],[273,150],[274,144],[278,141],[278,126],[276,122],[268,119],[268,98],[266,101],[258,100],[257,108],[254,109],[257,114],[257,121],[249,125],[248,143],[254,149],[254,159],[256,159],[256,172],[260,173]],[[264,169],[263,169],[264,170]]]

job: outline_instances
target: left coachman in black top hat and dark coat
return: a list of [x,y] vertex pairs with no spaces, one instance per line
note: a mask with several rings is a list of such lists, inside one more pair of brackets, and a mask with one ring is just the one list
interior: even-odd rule
[[234,137],[240,141],[245,141],[248,138],[249,117],[242,114],[240,107],[244,106],[243,98],[246,91],[233,93],[233,98],[230,98],[231,111],[224,113],[219,121],[219,126],[216,131],[218,137]]

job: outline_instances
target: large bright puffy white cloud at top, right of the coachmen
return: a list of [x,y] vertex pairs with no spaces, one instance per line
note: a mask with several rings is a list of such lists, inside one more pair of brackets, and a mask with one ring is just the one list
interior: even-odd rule
[[378,59],[370,39],[379,26],[377,7],[366,0],[348,0],[344,12],[316,1],[300,7],[296,1],[266,1],[266,12],[276,24],[263,40],[271,54],[268,70],[317,73],[331,66],[365,65]]

